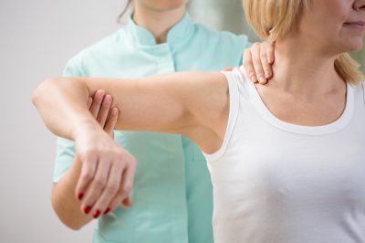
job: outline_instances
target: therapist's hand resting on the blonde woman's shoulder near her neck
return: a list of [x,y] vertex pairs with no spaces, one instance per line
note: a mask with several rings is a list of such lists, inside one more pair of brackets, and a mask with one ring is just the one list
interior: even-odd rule
[[244,52],[244,68],[248,77],[255,83],[266,84],[273,76],[272,64],[275,60],[275,43],[258,43]]

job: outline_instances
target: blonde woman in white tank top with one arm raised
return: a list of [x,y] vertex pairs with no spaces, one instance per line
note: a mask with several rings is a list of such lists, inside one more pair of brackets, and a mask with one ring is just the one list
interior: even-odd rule
[[276,41],[266,86],[240,69],[40,85],[44,122],[75,140],[87,168],[82,205],[103,210],[112,189],[132,185],[134,163],[88,111],[102,89],[121,111],[117,129],[180,133],[201,147],[215,242],[365,242],[365,88],[347,54],[362,46],[365,0],[245,0],[245,11]]

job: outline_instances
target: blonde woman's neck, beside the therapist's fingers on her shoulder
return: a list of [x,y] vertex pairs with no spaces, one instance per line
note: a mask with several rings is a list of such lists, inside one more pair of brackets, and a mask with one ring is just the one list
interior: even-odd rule
[[334,68],[337,57],[312,48],[305,38],[277,40],[275,57],[272,87],[308,98],[345,88]]

